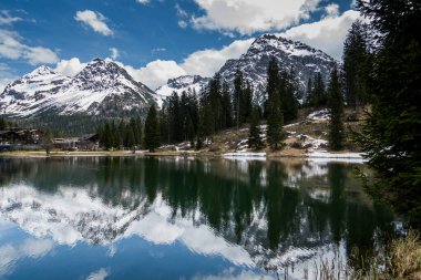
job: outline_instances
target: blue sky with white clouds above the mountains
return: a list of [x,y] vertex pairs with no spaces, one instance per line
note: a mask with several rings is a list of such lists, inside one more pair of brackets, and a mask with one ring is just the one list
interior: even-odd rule
[[154,89],[212,75],[267,32],[339,59],[358,17],[350,0],[1,0],[0,86],[40,64],[74,75],[112,58]]

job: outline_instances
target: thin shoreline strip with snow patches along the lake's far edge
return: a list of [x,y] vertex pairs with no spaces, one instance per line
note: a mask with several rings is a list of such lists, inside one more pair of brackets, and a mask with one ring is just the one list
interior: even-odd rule
[[338,152],[330,153],[326,151],[315,151],[311,153],[283,153],[274,152],[196,152],[196,151],[163,151],[150,153],[146,151],[101,151],[101,152],[50,152],[49,155],[45,152],[40,151],[22,151],[22,152],[6,152],[0,153],[0,158],[65,158],[65,157],[141,157],[141,156],[154,156],[154,157],[194,157],[194,158],[225,158],[225,159],[243,159],[243,160],[270,160],[278,158],[301,158],[306,160],[315,162],[352,162],[364,163],[366,159],[359,153]]

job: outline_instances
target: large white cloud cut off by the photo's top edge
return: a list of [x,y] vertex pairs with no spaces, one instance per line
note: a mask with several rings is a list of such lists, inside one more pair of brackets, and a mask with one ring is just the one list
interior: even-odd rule
[[281,30],[308,19],[320,0],[195,0],[205,12],[193,17],[195,29],[236,31]]

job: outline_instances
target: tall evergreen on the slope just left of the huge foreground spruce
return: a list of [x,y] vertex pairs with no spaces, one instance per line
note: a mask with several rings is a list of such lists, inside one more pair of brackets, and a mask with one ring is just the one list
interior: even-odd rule
[[367,95],[367,68],[369,52],[366,24],[360,20],[352,23],[345,40],[342,55],[342,80],[347,105],[353,108],[363,105]]

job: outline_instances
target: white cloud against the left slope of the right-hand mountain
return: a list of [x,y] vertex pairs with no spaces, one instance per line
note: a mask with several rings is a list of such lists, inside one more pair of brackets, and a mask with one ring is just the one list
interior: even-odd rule
[[255,39],[237,40],[220,50],[208,49],[192,53],[181,66],[187,74],[213,76],[229,59],[238,59],[245,53]]

